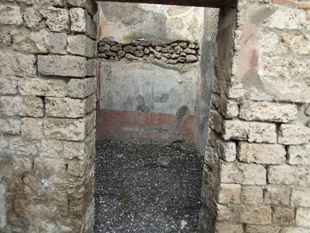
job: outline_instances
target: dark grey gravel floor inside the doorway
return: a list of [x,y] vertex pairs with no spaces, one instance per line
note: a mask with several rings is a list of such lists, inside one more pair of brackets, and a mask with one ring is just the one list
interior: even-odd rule
[[202,166],[192,145],[97,140],[95,233],[198,232]]

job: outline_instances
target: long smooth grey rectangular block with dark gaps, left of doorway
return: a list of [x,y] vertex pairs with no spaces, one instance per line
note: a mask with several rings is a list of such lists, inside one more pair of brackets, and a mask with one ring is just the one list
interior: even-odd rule
[[87,62],[85,57],[39,55],[38,72],[43,75],[85,77]]

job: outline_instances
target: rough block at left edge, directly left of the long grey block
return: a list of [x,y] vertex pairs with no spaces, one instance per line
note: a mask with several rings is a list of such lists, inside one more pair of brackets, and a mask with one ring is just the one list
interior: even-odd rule
[[7,50],[0,52],[0,73],[2,75],[35,77],[37,75],[35,63],[34,55],[12,53]]

